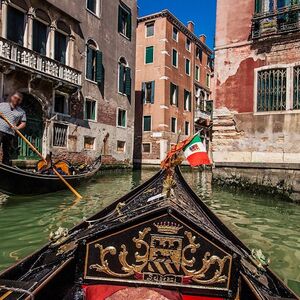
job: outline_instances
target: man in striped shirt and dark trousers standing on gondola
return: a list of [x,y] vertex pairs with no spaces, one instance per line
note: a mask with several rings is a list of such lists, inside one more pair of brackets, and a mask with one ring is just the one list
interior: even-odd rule
[[[20,107],[23,94],[16,91],[9,97],[8,102],[0,103],[0,113],[5,116],[16,129],[26,127],[26,113]],[[2,144],[2,163],[10,165],[11,152],[15,131],[0,117],[0,145]]]

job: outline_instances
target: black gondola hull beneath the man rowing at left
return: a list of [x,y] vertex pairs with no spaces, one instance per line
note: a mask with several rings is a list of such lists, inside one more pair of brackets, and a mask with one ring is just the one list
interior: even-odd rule
[[[101,158],[76,175],[64,176],[73,187],[90,181],[100,170]],[[8,195],[40,195],[66,189],[66,185],[56,176],[22,170],[0,164],[0,192]]]

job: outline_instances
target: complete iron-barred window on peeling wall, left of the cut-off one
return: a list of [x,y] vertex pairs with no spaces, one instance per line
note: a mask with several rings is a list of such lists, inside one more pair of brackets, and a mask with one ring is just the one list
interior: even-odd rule
[[257,73],[257,111],[286,109],[287,70],[269,69]]

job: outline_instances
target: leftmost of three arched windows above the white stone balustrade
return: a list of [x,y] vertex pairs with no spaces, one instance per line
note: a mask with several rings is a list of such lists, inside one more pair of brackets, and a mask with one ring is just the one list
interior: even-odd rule
[[12,0],[7,8],[7,39],[23,46],[25,34],[25,15],[28,6],[24,0]]

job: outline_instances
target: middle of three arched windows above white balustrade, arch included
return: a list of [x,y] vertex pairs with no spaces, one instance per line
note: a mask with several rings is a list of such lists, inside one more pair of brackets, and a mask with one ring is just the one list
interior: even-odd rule
[[32,49],[42,55],[47,52],[47,40],[51,20],[46,12],[41,9],[35,11],[32,24]]

